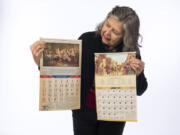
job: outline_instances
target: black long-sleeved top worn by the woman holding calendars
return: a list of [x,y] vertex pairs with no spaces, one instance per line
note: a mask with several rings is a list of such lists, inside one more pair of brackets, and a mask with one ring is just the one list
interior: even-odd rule
[[[86,32],[79,37],[82,40],[82,67],[81,67],[81,111],[88,109],[85,106],[88,90],[93,87],[95,65],[94,53],[112,52],[108,46],[102,43],[101,36],[95,32]],[[114,49],[115,52],[122,52],[123,43],[121,42]],[[136,56],[141,59],[140,55]],[[142,95],[147,88],[147,81],[142,72],[137,77],[137,95]],[[75,111],[74,111],[75,112]]]

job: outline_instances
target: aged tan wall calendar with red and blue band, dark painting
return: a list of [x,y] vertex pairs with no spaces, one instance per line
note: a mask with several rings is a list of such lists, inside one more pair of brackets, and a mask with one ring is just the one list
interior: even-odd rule
[[41,40],[39,110],[80,109],[81,40]]

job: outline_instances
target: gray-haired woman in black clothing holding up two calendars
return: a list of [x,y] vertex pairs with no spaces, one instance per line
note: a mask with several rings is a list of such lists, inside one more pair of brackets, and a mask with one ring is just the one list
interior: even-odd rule
[[[94,53],[135,51],[136,58],[130,60],[130,67],[137,75],[137,95],[142,95],[147,88],[147,81],[139,51],[139,26],[139,18],[133,9],[116,6],[97,26],[96,31],[86,32],[79,37],[82,40],[81,109],[73,110],[75,135],[122,135],[125,122],[97,120]],[[44,46],[43,41],[31,46],[37,65]]]

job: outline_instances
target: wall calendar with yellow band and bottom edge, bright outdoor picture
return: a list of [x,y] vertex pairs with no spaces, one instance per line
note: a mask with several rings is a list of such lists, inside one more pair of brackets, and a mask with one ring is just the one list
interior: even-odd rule
[[95,53],[98,120],[137,121],[136,74],[129,60],[135,52]]

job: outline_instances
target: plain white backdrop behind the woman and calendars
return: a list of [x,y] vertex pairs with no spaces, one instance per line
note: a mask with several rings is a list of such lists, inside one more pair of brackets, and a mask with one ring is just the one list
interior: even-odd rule
[[148,90],[124,135],[179,135],[179,0],[1,0],[0,135],[72,135],[71,111],[39,112],[39,71],[29,46],[40,37],[77,39],[115,5],[141,20]]

